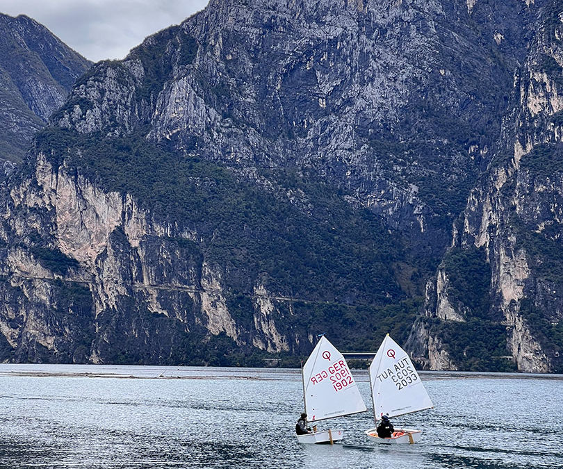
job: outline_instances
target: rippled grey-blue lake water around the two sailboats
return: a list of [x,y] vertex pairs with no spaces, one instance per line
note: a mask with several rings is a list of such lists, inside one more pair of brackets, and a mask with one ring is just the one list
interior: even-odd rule
[[435,408],[392,419],[421,443],[371,443],[366,412],[331,447],[297,444],[300,370],[0,365],[0,468],[563,468],[562,375],[421,377]]

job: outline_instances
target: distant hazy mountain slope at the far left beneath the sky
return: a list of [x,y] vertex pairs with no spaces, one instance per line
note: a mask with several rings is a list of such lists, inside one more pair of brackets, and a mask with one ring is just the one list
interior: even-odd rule
[[0,13],[0,174],[22,163],[35,132],[90,65],[35,20]]

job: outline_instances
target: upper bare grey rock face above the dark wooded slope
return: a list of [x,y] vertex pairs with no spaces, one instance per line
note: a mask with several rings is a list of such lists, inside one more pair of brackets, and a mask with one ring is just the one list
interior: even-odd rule
[[[498,133],[524,7],[212,1],[100,67],[56,122],[114,135],[149,124],[147,138],[188,155],[309,168],[436,256]],[[491,17],[505,17],[502,34]]]

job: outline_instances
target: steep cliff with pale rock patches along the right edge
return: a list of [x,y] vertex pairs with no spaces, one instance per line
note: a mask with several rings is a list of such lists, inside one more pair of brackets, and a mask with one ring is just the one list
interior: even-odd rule
[[538,16],[493,160],[411,336],[431,368],[478,368],[496,350],[519,370],[563,370],[563,8],[547,2]]

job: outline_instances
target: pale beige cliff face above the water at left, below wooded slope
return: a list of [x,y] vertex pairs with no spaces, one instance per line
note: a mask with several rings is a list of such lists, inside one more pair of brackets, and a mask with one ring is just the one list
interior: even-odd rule
[[[103,192],[41,152],[3,213],[1,238],[21,240],[2,249],[3,359],[188,361],[197,353],[181,341],[197,331],[270,352],[292,347],[263,286],[243,337],[222,268],[200,256],[193,233],[155,222],[129,195]],[[49,247],[33,246],[38,236]]]

